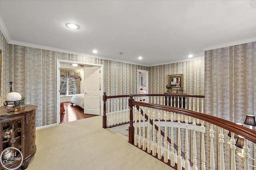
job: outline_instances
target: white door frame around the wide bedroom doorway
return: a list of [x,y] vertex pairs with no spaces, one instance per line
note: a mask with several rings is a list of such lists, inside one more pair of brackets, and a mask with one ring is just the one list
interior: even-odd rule
[[[88,66],[99,66],[100,67],[100,96],[103,96],[103,75],[104,75],[104,65],[103,64],[92,64],[92,63],[83,63],[79,61],[69,61],[69,60],[60,60],[57,59],[56,63],[56,81],[57,81],[57,86],[56,86],[56,93],[57,93],[57,100],[56,100],[56,120],[57,120],[57,125],[60,124],[60,63],[76,63],[76,64],[84,64]],[[103,115],[103,100],[100,100],[100,115]]]

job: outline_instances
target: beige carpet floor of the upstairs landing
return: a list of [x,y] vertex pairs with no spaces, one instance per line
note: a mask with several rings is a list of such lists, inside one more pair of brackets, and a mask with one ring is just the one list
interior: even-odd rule
[[27,170],[172,170],[102,128],[102,116],[36,130],[36,155]]

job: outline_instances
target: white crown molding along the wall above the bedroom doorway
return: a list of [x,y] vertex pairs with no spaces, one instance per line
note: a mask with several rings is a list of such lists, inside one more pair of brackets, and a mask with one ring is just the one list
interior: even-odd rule
[[60,53],[68,53],[68,54],[73,54],[73,55],[82,55],[82,56],[86,56],[86,57],[92,57],[92,58],[97,58],[97,59],[116,61],[116,62],[121,62],[121,63],[135,64],[135,65],[140,65],[140,66],[148,66],[146,64],[141,64],[141,63],[133,63],[133,62],[124,61],[124,60],[118,60],[118,59],[112,59],[112,58],[108,58],[108,57],[101,57],[101,56],[96,56],[96,55],[90,55],[90,54],[86,54],[86,53],[80,53],[80,52],[76,52],[76,51],[69,51],[69,50],[64,50],[64,49],[47,47],[47,46],[43,46],[43,45],[24,43],[24,42],[20,42],[20,41],[13,41],[13,40],[11,40],[9,42],[9,44],[21,45],[21,46],[25,46],[25,47],[32,47],[32,48],[36,48],[36,49],[44,49],[44,50],[49,50],[49,51],[56,51],[56,52],[60,52]]

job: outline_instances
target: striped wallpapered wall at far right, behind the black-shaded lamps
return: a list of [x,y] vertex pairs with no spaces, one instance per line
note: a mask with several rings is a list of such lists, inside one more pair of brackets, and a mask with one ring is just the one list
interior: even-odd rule
[[[205,113],[234,123],[244,123],[246,114],[255,115],[256,42],[205,51]],[[214,130],[217,136],[219,129]],[[225,141],[229,141],[227,133],[224,131]],[[210,143],[209,137],[206,140]],[[218,145],[214,147],[218,148]],[[254,146],[249,147],[255,151]],[[224,143],[224,150],[225,166],[230,169],[227,142]],[[215,152],[216,158],[218,155]],[[243,167],[242,164],[237,166],[238,169]]]

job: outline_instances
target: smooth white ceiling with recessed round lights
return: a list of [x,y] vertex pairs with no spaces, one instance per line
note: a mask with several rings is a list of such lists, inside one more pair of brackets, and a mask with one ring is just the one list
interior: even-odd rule
[[[152,66],[186,61],[190,54],[202,58],[205,49],[256,41],[255,0],[251,3],[0,0],[0,28],[11,44]],[[80,29],[66,27],[70,22]]]

